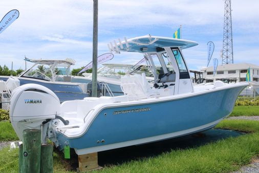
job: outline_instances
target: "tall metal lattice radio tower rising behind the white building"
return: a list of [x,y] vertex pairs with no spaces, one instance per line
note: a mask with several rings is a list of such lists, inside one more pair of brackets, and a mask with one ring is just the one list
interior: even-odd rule
[[233,61],[231,1],[225,0],[222,65],[233,64],[233,63],[234,61]]

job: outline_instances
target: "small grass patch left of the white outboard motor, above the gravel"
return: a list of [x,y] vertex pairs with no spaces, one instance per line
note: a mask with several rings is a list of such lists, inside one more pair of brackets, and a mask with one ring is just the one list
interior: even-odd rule
[[11,123],[9,121],[0,121],[0,141],[15,140],[18,140],[18,138],[13,130]]

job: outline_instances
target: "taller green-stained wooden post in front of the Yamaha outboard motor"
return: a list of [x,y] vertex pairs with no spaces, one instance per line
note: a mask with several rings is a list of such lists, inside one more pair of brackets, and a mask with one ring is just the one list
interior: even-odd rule
[[21,172],[40,173],[41,131],[26,129],[23,131],[23,167]]

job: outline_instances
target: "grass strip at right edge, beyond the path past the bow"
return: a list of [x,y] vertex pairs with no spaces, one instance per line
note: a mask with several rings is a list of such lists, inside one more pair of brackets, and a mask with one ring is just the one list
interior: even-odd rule
[[259,116],[259,106],[235,106],[229,117]]

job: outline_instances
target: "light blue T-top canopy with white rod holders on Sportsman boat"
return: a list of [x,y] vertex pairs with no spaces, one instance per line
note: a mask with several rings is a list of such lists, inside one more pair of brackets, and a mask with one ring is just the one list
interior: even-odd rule
[[115,45],[110,43],[108,45],[110,51],[120,52],[120,51],[127,51],[127,52],[157,52],[161,51],[161,48],[164,47],[180,47],[181,49],[189,48],[192,46],[198,45],[197,42],[182,40],[182,39],[173,39],[169,37],[161,37],[161,36],[139,36],[133,39],[126,39],[124,41],[120,41]]

